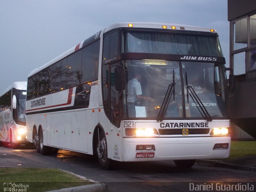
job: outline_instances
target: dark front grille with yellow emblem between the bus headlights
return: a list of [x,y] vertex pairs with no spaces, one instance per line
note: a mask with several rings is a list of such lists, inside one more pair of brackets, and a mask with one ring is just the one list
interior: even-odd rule
[[159,129],[158,131],[160,135],[204,135],[204,134],[209,134],[210,132],[210,129],[208,128],[201,128],[201,129],[188,128],[187,134],[184,134],[184,130],[186,129]]

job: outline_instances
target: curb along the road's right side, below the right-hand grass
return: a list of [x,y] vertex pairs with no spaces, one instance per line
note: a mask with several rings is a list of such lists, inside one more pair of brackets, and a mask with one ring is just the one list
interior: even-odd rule
[[220,162],[218,160],[197,160],[196,162],[198,164],[201,164],[201,165],[204,165],[204,166],[231,168],[231,169],[235,169],[235,170],[256,172],[256,167],[225,163],[225,162]]

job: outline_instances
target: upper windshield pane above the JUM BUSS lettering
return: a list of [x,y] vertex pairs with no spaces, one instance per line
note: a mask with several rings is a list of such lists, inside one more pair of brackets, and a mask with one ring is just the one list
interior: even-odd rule
[[130,31],[123,34],[122,52],[222,57],[216,35]]

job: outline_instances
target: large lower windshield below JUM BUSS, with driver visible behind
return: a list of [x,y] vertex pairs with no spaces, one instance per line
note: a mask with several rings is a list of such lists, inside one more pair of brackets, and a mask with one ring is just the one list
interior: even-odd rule
[[164,119],[205,118],[202,105],[211,118],[226,117],[223,64],[167,60],[125,60],[123,63],[127,75],[124,117],[156,118],[172,83],[174,91]]

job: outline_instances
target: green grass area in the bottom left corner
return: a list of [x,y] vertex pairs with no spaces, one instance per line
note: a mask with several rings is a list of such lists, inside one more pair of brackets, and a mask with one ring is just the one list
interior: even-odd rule
[[[1,183],[2,182],[2,183]],[[3,183],[28,185],[27,192],[45,192],[92,184],[68,172],[49,168],[0,168],[0,191]]]

